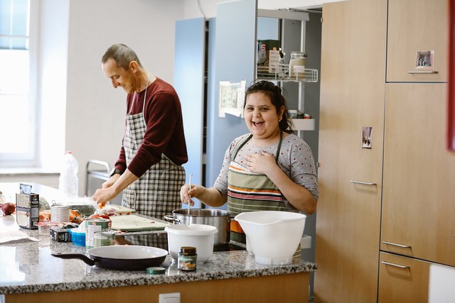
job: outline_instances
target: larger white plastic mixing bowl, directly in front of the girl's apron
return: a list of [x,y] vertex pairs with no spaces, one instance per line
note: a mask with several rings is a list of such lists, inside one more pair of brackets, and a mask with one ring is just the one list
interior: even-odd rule
[[301,237],[306,216],[288,211],[249,211],[235,216],[248,239],[259,264],[292,263]]

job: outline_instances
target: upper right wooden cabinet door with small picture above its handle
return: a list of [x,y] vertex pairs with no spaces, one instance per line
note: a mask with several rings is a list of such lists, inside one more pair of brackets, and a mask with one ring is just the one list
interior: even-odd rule
[[[387,82],[446,82],[447,18],[446,0],[389,1]],[[433,52],[431,67],[419,66],[425,51]]]

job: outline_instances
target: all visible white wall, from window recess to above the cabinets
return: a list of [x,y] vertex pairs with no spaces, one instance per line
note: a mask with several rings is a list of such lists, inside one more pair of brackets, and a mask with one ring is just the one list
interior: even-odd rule
[[[259,9],[304,8],[339,0],[259,0]],[[60,156],[72,150],[79,160],[80,194],[90,159],[114,165],[124,132],[126,93],[112,86],[101,57],[113,43],[125,43],[146,69],[171,82],[175,22],[216,16],[225,0],[41,0],[41,99],[45,170],[56,171]],[[201,12],[202,10],[202,12]],[[65,99],[66,90],[66,99]],[[63,141],[64,143],[59,143]],[[2,182],[42,178],[2,175]],[[38,178],[38,180],[37,180]],[[43,180],[44,181],[44,180]],[[45,178],[58,185],[58,175]]]

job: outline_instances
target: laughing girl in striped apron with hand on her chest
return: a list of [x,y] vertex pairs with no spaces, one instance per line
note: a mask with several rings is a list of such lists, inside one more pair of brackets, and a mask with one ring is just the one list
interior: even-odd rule
[[[214,207],[228,202],[232,216],[263,210],[313,214],[319,194],[314,158],[309,145],[292,133],[287,110],[282,90],[272,82],[249,87],[244,116],[250,133],[230,143],[213,187],[188,190],[185,184],[181,201],[194,204],[193,197]],[[231,224],[231,240],[245,243],[235,229]]]

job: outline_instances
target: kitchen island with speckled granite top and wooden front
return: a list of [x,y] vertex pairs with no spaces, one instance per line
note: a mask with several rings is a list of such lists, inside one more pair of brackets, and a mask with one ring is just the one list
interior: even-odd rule
[[[3,226],[14,224],[7,217],[13,218],[2,217]],[[106,270],[50,255],[85,253],[85,247],[20,231],[39,241],[0,244],[0,302],[159,302],[159,294],[172,292],[181,294],[181,302],[308,302],[309,272],[316,270],[299,258],[289,265],[259,265],[246,250],[215,252],[196,272],[178,270],[170,255],[161,275]]]

